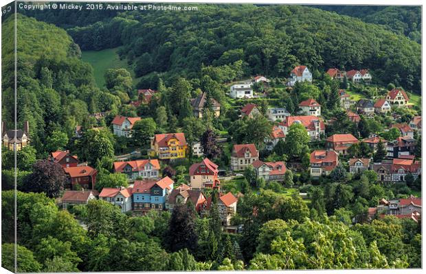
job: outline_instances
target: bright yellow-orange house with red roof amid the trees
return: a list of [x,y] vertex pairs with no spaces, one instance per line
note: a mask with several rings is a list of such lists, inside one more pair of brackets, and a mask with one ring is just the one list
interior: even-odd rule
[[151,140],[150,156],[160,160],[185,158],[188,144],[183,133],[155,134]]

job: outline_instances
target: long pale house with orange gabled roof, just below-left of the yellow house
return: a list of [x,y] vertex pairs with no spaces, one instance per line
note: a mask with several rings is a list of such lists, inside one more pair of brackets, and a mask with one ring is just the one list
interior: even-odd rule
[[139,177],[142,177],[142,179],[157,179],[159,177],[160,164],[157,159],[114,162],[113,169],[115,173],[127,175],[129,180]]

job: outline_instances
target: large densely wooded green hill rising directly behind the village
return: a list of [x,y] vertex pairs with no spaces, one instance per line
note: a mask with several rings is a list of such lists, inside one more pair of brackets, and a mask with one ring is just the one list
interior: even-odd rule
[[[137,76],[197,77],[201,66],[243,60],[247,75],[286,77],[366,67],[379,84],[420,90],[421,46],[380,25],[304,6],[201,5],[198,12],[126,12],[108,23],[69,29],[81,49],[123,45]],[[149,75],[149,77],[155,77]],[[144,79],[142,79],[144,80]],[[146,84],[146,81],[144,82]]]

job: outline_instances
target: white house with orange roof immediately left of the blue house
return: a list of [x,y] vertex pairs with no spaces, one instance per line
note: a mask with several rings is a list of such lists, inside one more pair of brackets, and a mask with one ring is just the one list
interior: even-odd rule
[[109,201],[114,206],[118,206],[121,211],[132,210],[132,188],[102,188],[99,199]]

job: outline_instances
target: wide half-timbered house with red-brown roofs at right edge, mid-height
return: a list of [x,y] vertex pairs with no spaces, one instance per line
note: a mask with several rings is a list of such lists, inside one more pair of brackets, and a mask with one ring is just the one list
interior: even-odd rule
[[372,170],[377,173],[381,182],[403,182],[405,175],[411,173],[416,179],[421,174],[421,162],[414,159],[383,160],[372,164]]

